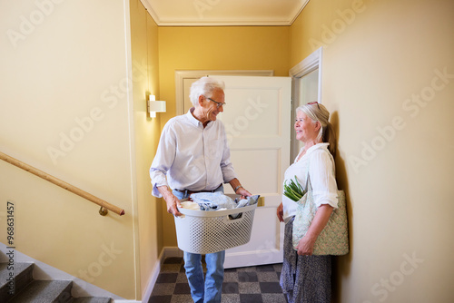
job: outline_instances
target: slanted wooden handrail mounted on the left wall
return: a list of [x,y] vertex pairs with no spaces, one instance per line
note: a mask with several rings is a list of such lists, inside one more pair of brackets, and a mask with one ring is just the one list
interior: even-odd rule
[[[57,179],[47,173],[45,173],[44,171],[40,171],[38,169],[36,169],[35,167],[33,166],[30,166],[28,164],[25,164],[24,162],[22,161],[19,161],[13,157],[10,157],[8,156],[7,154],[3,153],[3,152],[0,152],[0,159],[3,160],[3,161],[6,161],[10,164],[13,164],[15,166],[17,166],[18,168],[20,169],[23,169],[24,171],[28,171],[28,172],[31,172],[33,173],[35,176],[38,176],[46,181],[49,181],[51,183],[54,183],[55,185],[57,186],[60,186],[61,188],[63,188],[64,190],[66,191],[71,191],[73,192],[74,194],[86,199],[86,200],[90,200],[92,202],[94,202],[95,204],[98,204],[99,206],[101,206],[101,210],[104,208],[104,209],[107,209],[107,210],[112,210],[114,211],[114,213],[120,215],[120,216],[123,216],[124,215],[124,210],[120,209],[119,207],[115,206],[115,205],[112,205],[110,204],[109,202],[106,202],[102,199],[99,199],[97,197],[95,197],[94,195],[86,192],[86,191],[82,191],[81,189],[78,189],[76,188],[75,186],[69,184],[69,183],[66,183],[65,181],[61,181],[60,179]],[[101,211],[100,211],[101,213]]]

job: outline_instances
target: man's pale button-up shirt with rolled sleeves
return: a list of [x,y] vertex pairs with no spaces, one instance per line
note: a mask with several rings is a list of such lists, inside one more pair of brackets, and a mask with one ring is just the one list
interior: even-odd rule
[[164,125],[150,168],[155,197],[161,198],[157,187],[163,185],[173,190],[212,191],[237,178],[224,125],[216,120],[203,128],[192,116],[193,110]]

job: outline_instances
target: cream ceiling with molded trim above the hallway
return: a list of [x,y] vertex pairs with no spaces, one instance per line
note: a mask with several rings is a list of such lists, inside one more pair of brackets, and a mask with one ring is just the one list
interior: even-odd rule
[[160,26],[291,25],[309,0],[141,0]]

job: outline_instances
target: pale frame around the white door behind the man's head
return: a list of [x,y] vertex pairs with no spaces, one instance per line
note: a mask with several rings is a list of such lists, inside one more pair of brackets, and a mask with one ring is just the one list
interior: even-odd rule
[[237,76],[273,76],[273,70],[176,70],[175,71],[175,102],[176,114],[180,115],[184,109],[183,81],[185,79],[199,79],[206,75],[237,75]]

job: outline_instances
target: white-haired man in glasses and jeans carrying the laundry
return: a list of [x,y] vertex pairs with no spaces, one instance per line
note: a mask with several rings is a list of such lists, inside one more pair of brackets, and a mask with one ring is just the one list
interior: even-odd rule
[[[150,177],[153,195],[163,197],[167,211],[174,216],[182,215],[177,209],[180,200],[193,192],[223,192],[223,183],[230,183],[237,194],[251,196],[233,171],[224,126],[216,120],[225,106],[223,89],[223,83],[210,77],[192,83],[194,107],[173,117],[163,128]],[[184,251],[184,269],[194,302],[221,302],[224,258],[224,250],[206,254],[203,281],[202,256]]]

